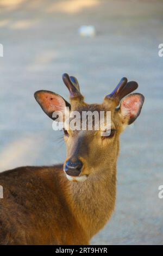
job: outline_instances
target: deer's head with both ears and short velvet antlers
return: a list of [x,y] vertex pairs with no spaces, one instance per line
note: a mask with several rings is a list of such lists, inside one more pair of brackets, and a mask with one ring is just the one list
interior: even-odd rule
[[[64,74],[63,80],[70,91],[70,103],[60,95],[45,90],[36,92],[35,99],[50,118],[63,123],[67,147],[64,172],[67,179],[84,181],[90,175],[114,169],[111,167],[116,164],[120,133],[139,116],[144,96],[138,93],[128,95],[138,85],[136,82],[127,83],[127,78],[122,78],[115,90],[105,96],[102,104],[89,105],[84,102],[75,77]],[[104,114],[103,119],[100,118],[101,113]],[[109,123],[106,121],[107,113]],[[72,124],[75,124],[73,129]]]

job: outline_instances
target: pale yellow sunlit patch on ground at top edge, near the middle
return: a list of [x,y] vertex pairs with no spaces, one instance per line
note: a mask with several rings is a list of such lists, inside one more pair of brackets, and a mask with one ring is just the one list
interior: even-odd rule
[[85,8],[91,8],[97,6],[99,0],[69,0],[53,3],[48,7],[47,12],[60,12],[60,13],[79,13]]

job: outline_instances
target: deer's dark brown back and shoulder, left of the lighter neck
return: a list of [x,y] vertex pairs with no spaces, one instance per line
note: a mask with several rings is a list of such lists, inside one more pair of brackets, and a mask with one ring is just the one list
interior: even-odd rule
[[70,212],[62,191],[62,166],[21,167],[1,173],[1,245],[85,244],[88,237]]

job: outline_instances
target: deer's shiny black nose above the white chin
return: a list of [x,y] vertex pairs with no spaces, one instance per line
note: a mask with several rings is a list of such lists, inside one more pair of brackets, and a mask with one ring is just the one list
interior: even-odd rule
[[82,171],[83,163],[80,160],[68,160],[65,165],[65,172],[70,176],[78,176]]

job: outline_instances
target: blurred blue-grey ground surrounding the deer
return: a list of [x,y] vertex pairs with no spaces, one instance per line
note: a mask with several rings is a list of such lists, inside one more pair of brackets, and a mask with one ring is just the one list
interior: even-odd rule
[[[79,28],[92,25],[94,36]],[[163,244],[163,1],[0,0],[0,171],[64,161],[61,132],[34,99],[68,99],[61,75],[78,78],[87,102],[102,102],[123,76],[146,101],[121,136],[117,202],[97,245]],[[89,34],[88,34],[89,35]]]

